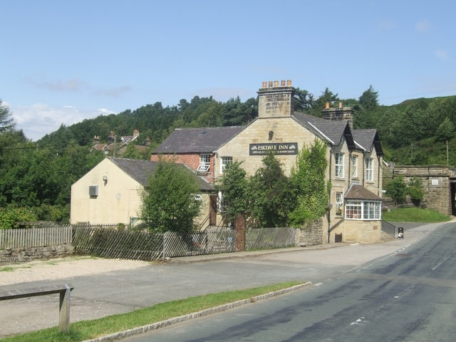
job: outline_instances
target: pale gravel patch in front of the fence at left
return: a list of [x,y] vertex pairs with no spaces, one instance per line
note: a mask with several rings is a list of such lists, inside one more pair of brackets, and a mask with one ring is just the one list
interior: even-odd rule
[[88,276],[149,265],[147,261],[66,257],[46,261],[31,261],[0,266],[0,286],[28,281],[57,280],[74,276]]

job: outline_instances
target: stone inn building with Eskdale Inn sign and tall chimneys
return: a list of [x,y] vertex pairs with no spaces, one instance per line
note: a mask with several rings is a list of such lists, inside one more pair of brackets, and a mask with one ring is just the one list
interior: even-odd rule
[[[290,175],[299,150],[321,140],[327,146],[326,180],[331,182],[331,194],[328,213],[312,228],[321,236],[319,243],[336,237],[344,242],[385,239],[381,230],[383,150],[377,130],[353,130],[353,110],[342,103],[336,108],[327,103],[322,118],[294,112],[291,81],[264,82],[258,96],[258,118],[249,125],[177,128],[152,152],[151,160],[172,157],[214,184],[234,160],[242,162],[247,175],[254,175],[271,150]],[[212,217],[220,217],[220,195],[212,195]]]

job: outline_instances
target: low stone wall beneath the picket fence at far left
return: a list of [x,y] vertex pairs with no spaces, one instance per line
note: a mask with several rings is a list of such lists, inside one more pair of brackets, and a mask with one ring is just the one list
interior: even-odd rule
[[33,260],[48,260],[73,254],[71,244],[46,247],[20,247],[0,249],[0,265],[28,262]]

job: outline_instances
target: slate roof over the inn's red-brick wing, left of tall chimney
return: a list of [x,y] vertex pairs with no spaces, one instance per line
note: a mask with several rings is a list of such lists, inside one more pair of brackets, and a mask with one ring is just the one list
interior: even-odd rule
[[176,128],[156,153],[210,153],[244,130],[245,126]]

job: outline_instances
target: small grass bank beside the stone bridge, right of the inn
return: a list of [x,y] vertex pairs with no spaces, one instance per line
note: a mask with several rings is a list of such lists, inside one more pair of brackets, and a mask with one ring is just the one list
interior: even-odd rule
[[431,209],[421,208],[399,208],[390,212],[383,212],[382,218],[390,222],[447,222],[447,217],[440,212]]

